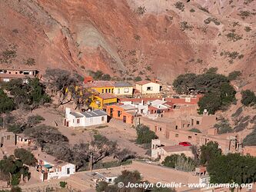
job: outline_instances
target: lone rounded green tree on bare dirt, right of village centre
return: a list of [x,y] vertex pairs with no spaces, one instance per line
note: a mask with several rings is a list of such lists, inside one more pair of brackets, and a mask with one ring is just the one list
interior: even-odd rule
[[138,124],[136,127],[137,131],[137,144],[150,144],[152,139],[158,138],[154,131],[151,131],[149,127],[144,124]]

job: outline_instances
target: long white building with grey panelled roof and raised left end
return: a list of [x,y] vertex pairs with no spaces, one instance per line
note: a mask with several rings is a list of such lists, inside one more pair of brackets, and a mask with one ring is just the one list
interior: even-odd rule
[[67,127],[87,127],[105,123],[107,123],[107,113],[105,111],[95,110],[79,113],[66,108],[64,124]]

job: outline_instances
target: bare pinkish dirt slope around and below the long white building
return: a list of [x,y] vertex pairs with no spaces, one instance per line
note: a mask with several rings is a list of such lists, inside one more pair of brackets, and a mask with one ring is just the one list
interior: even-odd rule
[[65,117],[65,109],[54,108],[38,108],[27,114],[41,115],[45,118],[42,124],[46,124],[52,127],[57,127],[58,131],[68,137],[71,145],[79,142],[90,142],[93,139],[95,133],[99,133],[108,137],[111,141],[117,141],[118,146],[121,148],[128,148],[130,151],[134,151],[138,156],[145,156],[145,150],[141,146],[135,144],[136,131],[130,124],[124,124],[122,121],[111,119],[105,127],[91,126],[91,127],[65,127],[63,125]]

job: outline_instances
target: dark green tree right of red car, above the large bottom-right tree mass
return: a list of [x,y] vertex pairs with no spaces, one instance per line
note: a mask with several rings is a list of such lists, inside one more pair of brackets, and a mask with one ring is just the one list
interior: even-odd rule
[[218,148],[218,143],[210,141],[207,144],[201,146],[200,161],[201,164],[208,163],[211,159],[221,155],[221,149]]

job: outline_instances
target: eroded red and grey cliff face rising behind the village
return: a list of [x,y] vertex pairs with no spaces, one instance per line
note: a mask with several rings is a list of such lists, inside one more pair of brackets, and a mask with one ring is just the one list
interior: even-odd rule
[[218,67],[243,71],[241,84],[251,84],[256,2],[247,2],[2,0],[0,51],[16,56],[1,65],[24,68],[35,58],[32,67],[42,71],[100,69],[163,81]]

